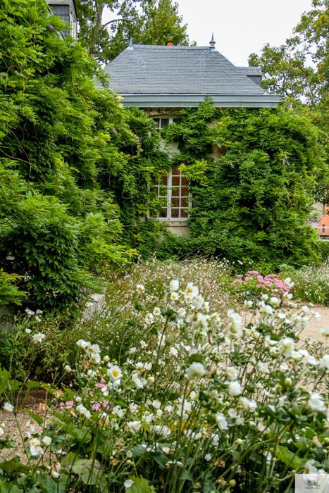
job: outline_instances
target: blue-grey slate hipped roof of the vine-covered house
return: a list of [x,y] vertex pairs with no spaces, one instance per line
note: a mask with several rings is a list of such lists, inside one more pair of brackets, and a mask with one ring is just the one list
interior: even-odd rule
[[[111,87],[122,95],[265,94],[244,69],[209,46],[134,44],[106,65],[105,71],[111,77]],[[259,68],[256,70],[251,75],[259,75]]]

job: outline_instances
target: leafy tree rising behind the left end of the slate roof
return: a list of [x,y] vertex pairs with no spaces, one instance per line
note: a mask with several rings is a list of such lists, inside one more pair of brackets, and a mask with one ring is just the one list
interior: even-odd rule
[[[101,63],[113,60],[130,37],[139,44],[188,44],[178,4],[171,0],[77,0],[79,39]],[[118,18],[103,22],[104,9]]]

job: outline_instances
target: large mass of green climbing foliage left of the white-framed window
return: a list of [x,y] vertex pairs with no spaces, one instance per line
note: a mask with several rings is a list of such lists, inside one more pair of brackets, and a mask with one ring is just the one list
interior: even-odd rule
[[139,216],[159,210],[146,183],[168,158],[43,0],[5,3],[0,22],[0,268],[26,276],[36,308],[74,317],[136,254]]

